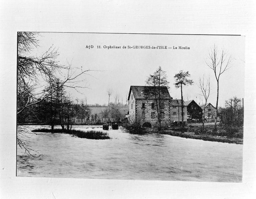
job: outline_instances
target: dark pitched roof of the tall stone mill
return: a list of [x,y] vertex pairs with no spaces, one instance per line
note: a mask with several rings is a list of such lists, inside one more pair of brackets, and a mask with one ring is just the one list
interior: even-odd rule
[[[152,94],[149,94],[153,91],[154,87],[151,86],[131,86],[129,91],[128,100],[130,99],[131,91],[135,99],[155,99]],[[158,87],[157,87],[158,89]],[[170,99],[170,94],[167,87],[160,87],[161,99]],[[148,93],[147,95],[145,95]]]

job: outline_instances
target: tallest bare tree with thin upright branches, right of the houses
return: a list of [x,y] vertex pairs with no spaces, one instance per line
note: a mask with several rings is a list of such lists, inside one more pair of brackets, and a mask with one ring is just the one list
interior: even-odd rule
[[230,68],[231,55],[227,55],[224,50],[218,50],[214,45],[209,53],[207,66],[213,70],[217,81],[217,100],[216,100],[216,112],[215,112],[215,128],[217,128],[217,115],[218,115],[218,100],[219,100],[219,79],[220,75]]

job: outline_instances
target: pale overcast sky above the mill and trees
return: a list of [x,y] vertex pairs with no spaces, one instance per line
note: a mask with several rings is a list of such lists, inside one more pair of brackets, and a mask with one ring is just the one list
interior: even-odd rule
[[[211,92],[208,102],[216,105],[217,83],[213,71],[207,67],[208,53],[215,44],[224,48],[232,56],[231,68],[220,76],[219,105],[233,96],[244,97],[244,36],[209,35],[147,35],[147,34],[92,34],[92,33],[40,33],[40,48],[37,53],[56,47],[58,60],[83,69],[99,70],[84,76],[84,88],[79,91],[68,90],[71,96],[87,98],[88,104],[108,103],[107,90],[113,89],[119,101],[126,103],[130,86],[144,86],[149,74],[158,66],[166,71],[170,82],[170,96],[181,99],[180,89],[174,87],[173,76],[180,70],[189,71],[194,85],[183,90],[184,100],[194,99],[199,103],[199,77],[210,76]],[[93,45],[94,48],[86,48]],[[103,46],[121,46],[121,49],[104,49]],[[100,49],[97,46],[101,46]],[[123,49],[123,46],[167,46],[168,49]],[[187,46],[189,50],[174,50],[174,47]],[[170,49],[172,48],[172,49]],[[201,102],[202,103],[202,102]]]

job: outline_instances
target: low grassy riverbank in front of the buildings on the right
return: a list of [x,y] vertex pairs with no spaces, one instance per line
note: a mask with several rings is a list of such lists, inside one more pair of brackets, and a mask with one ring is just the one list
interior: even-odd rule
[[225,143],[235,143],[243,144],[243,132],[242,127],[231,128],[229,130],[217,127],[217,131],[214,130],[214,125],[205,126],[202,129],[201,126],[186,126],[185,128],[171,128],[171,129],[149,129],[148,132],[167,134],[178,137],[185,137],[191,139],[201,139],[205,141],[215,141],[215,142],[225,142]]

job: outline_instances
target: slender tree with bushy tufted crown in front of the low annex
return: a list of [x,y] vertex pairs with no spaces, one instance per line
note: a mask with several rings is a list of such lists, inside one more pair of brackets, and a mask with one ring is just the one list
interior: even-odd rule
[[190,74],[187,72],[180,71],[177,73],[174,78],[175,78],[175,87],[181,89],[181,116],[182,116],[182,126],[184,127],[184,115],[183,115],[183,94],[182,94],[182,85],[192,85],[194,82],[192,80],[189,80],[188,78],[190,77]]

